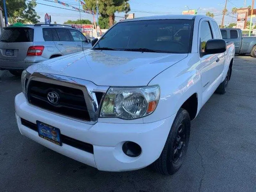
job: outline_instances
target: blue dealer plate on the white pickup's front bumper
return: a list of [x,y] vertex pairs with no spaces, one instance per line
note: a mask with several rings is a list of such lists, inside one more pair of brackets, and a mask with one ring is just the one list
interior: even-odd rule
[[62,146],[60,130],[58,128],[37,121],[37,129],[39,137],[42,137],[43,139],[46,139],[56,145]]

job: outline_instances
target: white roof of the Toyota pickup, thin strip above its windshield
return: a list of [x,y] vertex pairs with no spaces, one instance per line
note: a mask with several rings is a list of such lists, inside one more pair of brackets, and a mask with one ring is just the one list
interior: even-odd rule
[[127,21],[143,21],[143,20],[166,20],[166,19],[188,19],[192,20],[195,18],[212,18],[206,15],[155,15],[155,16],[147,16],[147,17],[138,17],[134,19],[126,19],[121,22]]

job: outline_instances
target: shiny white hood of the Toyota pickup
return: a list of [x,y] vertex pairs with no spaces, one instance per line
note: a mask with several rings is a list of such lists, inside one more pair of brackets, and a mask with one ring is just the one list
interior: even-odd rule
[[27,71],[69,76],[102,86],[146,86],[187,55],[89,49],[34,64]]

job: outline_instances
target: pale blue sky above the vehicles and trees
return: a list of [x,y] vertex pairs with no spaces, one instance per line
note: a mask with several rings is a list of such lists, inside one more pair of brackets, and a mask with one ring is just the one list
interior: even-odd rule
[[[76,0],[60,0],[71,6],[79,8],[79,1]],[[44,22],[44,15],[48,13],[51,15],[52,23],[56,21],[58,24],[63,24],[67,20],[77,20],[80,18],[78,11],[70,11],[60,8],[72,9],[71,7],[65,7],[60,5],[54,0],[37,0],[36,12],[41,17],[40,22]],[[41,5],[46,4],[46,5]],[[182,14],[182,11],[189,9],[198,9],[198,15],[205,15],[207,11],[212,12],[215,16],[215,20],[220,24],[222,19],[222,10],[225,6],[225,0],[129,0],[131,11],[135,17],[152,16],[152,15],[168,15],[168,14]],[[50,5],[50,6],[47,6]],[[233,7],[243,7],[244,0],[228,0],[227,9],[228,14],[225,16],[224,25],[228,25],[230,22],[236,21],[236,15],[231,14]],[[251,0],[246,0],[246,6],[251,5]],[[55,6],[55,7],[53,7]],[[185,6],[188,6],[185,7]],[[256,5],[255,5],[256,6]],[[60,7],[60,8],[57,8]],[[80,6],[82,9],[82,7]],[[116,21],[123,19],[124,13],[116,13]],[[82,19],[89,19],[92,21],[92,16],[81,12]],[[254,18],[256,22],[256,18]],[[254,23],[255,23],[254,22]]]

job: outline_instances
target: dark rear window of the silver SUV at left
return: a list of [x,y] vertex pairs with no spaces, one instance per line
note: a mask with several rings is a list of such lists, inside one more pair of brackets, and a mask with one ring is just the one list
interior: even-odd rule
[[0,42],[33,42],[33,36],[34,29],[32,28],[5,28],[0,36]]

